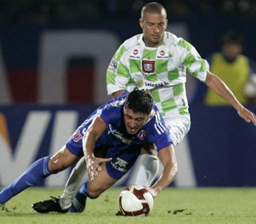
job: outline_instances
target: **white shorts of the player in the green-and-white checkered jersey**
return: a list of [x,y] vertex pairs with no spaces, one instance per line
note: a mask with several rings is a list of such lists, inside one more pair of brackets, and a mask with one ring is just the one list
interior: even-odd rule
[[169,129],[173,145],[178,145],[190,129],[190,115],[177,115],[175,118],[164,118]]

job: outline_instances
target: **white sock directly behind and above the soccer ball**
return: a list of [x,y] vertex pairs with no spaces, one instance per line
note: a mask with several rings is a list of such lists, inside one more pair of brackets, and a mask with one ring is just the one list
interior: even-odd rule
[[140,163],[134,184],[138,186],[150,186],[156,178],[159,169],[159,159],[154,155],[143,154],[140,157]]

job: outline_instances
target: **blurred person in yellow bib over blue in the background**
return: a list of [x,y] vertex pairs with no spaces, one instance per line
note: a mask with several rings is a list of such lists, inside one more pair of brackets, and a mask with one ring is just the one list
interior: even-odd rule
[[[230,90],[236,95],[241,104],[256,103],[256,91],[248,89],[244,92],[244,86],[252,77],[256,79],[255,63],[247,56],[241,54],[243,42],[241,36],[233,31],[226,33],[221,42],[221,52],[213,53],[207,61],[210,70],[223,80]],[[256,85],[255,85],[256,90]],[[220,106],[228,105],[228,102],[207,88],[204,83],[197,83],[193,101],[200,99],[206,105]]]

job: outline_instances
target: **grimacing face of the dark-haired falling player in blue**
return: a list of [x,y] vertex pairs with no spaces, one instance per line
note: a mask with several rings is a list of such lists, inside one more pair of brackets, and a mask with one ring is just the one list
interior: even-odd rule
[[147,122],[148,115],[145,113],[133,113],[129,108],[124,108],[124,124],[129,134],[136,134]]

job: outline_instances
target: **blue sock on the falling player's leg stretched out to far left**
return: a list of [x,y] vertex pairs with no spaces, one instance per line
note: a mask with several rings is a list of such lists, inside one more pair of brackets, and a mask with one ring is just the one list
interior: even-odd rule
[[12,182],[12,184],[3,188],[0,191],[0,204],[4,204],[24,189],[35,185],[40,180],[43,180],[45,177],[54,173],[49,169],[49,159],[50,156],[36,160],[35,163],[31,164],[29,168],[20,175],[20,177]]

